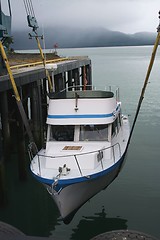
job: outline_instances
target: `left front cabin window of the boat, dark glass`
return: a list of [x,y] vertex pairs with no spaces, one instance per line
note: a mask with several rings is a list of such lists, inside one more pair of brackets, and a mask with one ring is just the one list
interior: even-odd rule
[[73,125],[51,125],[49,141],[73,141]]

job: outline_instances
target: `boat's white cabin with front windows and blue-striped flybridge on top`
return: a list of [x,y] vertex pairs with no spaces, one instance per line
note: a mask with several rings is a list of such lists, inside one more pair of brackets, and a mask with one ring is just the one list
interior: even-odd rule
[[108,91],[52,94],[47,124],[47,142],[111,142],[121,126],[120,103]]

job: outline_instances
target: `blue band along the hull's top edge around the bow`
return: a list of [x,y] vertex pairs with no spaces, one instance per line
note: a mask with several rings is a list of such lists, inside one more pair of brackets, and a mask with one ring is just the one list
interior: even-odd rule
[[[116,168],[118,168],[119,166],[121,166],[123,160],[124,160],[124,156],[125,154],[119,159],[118,162],[116,162],[113,166],[111,166],[110,168],[106,169],[106,170],[103,170],[99,173],[95,173],[93,175],[90,175],[90,178],[86,178],[86,177],[79,177],[79,178],[74,178],[74,179],[68,179],[68,180],[59,180],[58,181],[58,184],[55,188],[56,191],[58,191],[59,189],[61,188],[65,188],[67,187],[68,185],[71,185],[71,184],[75,184],[75,183],[81,183],[81,182],[86,182],[86,181],[91,181],[93,179],[96,179],[96,178],[99,178],[99,177],[102,177],[112,171],[114,171]],[[47,184],[47,185],[52,185],[54,183],[54,180],[53,179],[47,179],[47,178],[42,178],[40,176],[37,176],[35,175],[33,172],[32,172],[33,176],[37,179],[37,181],[43,183],[43,184]]]

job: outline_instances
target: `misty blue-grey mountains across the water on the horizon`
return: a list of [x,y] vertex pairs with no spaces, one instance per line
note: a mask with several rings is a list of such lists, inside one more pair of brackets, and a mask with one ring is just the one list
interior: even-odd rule
[[[37,49],[35,39],[28,38],[29,30],[13,31],[14,49]],[[125,34],[105,28],[64,26],[47,28],[44,33],[46,49],[53,49],[55,43],[58,43],[60,48],[153,45],[155,38],[156,33],[149,32]]]

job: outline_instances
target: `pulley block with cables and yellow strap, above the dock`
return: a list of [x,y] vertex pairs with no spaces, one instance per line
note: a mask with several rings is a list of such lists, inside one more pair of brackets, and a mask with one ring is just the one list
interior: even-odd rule
[[39,26],[38,26],[36,16],[35,16],[35,13],[34,13],[32,0],[23,0],[23,2],[24,2],[26,14],[27,14],[28,26],[32,28],[32,31],[33,31],[33,34],[34,34],[34,35],[29,34],[29,36],[30,36],[30,38],[34,37],[37,41],[37,45],[38,45],[38,49],[40,51],[43,66],[45,68],[45,74],[46,74],[46,77],[47,77],[48,83],[49,83],[49,89],[52,92],[53,91],[53,85],[52,85],[51,77],[50,77],[48,69],[46,69],[46,59],[44,57],[42,47],[41,47],[41,44],[40,44],[40,41],[39,41],[39,37],[43,38],[43,36],[38,36],[38,33],[37,33],[37,29],[39,28]]

